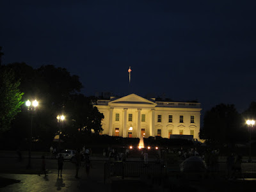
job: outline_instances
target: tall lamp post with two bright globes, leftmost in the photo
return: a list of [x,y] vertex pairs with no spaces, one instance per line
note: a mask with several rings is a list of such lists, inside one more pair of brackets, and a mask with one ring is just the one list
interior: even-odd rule
[[30,127],[30,138],[29,138],[28,166],[27,166],[27,168],[31,168],[31,143],[32,143],[32,129],[33,129],[33,111],[36,110],[36,107],[38,106],[38,101],[33,100],[32,104],[31,104],[30,100],[27,100],[26,106],[28,107],[28,111],[31,111],[31,127]]

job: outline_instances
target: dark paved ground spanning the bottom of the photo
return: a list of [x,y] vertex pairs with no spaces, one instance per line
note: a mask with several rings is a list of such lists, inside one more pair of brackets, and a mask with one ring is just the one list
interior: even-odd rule
[[[15,152],[13,152],[15,154]],[[56,159],[46,159],[49,173],[47,177],[38,176],[39,156],[33,156],[33,168],[26,169],[28,159],[22,162],[13,156],[0,152],[0,191],[255,191],[256,179],[227,180],[223,177],[205,177],[198,175],[180,175],[179,172],[168,173],[159,177],[106,179],[104,182],[104,159],[92,157],[92,169],[89,177],[85,168],[79,170],[79,179],[74,177],[74,164],[65,161],[63,177],[58,177]],[[138,160],[138,159],[131,159]],[[253,176],[254,177],[254,176]]]

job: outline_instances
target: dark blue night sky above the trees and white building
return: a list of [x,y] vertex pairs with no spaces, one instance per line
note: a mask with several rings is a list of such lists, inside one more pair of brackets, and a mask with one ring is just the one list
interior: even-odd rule
[[255,1],[0,3],[3,63],[52,64],[97,90],[166,93],[239,112],[255,99]]

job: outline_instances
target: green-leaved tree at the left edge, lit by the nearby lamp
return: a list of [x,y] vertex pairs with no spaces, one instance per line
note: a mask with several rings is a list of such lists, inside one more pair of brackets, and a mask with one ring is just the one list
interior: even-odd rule
[[10,129],[12,120],[20,112],[22,95],[20,81],[15,81],[14,72],[1,67],[0,72],[0,132]]

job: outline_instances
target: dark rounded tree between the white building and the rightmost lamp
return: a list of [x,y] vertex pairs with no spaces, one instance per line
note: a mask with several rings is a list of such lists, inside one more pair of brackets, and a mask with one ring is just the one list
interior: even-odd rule
[[207,111],[200,138],[213,143],[235,143],[241,140],[242,120],[234,105],[219,104]]

